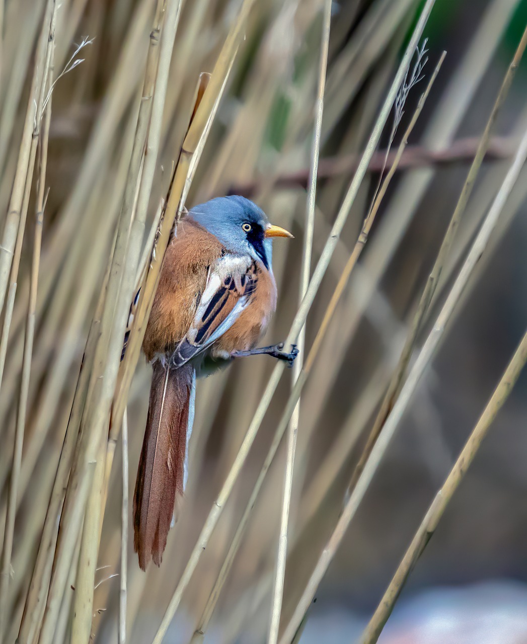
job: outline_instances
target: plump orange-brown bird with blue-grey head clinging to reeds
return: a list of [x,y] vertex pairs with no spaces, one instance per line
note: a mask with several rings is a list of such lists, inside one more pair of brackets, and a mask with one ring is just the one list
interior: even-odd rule
[[186,488],[196,377],[238,357],[267,354],[291,366],[298,354],[296,345],[256,346],[276,310],[276,237],[293,236],[239,195],[196,205],[171,233],[142,344],[153,367],[133,496],[142,570],[161,564]]

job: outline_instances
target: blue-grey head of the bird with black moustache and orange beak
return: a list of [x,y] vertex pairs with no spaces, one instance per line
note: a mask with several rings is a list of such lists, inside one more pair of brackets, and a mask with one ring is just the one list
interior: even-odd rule
[[196,205],[188,216],[215,235],[228,251],[249,254],[271,270],[273,237],[292,237],[291,232],[269,223],[261,208],[233,194]]

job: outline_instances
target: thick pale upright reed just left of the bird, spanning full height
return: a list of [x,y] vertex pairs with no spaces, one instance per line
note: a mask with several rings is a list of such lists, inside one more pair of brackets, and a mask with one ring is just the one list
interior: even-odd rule
[[[102,500],[106,497],[104,491],[104,473],[106,469],[107,437],[103,439],[102,433],[106,419],[109,419],[113,388],[115,388],[115,379],[117,378],[117,371],[119,370],[119,363],[113,365],[110,358],[106,361],[106,355],[103,357],[103,353],[106,354],[108,350],[109,355],[112,355],[110,352],[116,352],[118,343],[122,348],[122,337],[124,336],[124,328],[126,327],[126,319],[124,316],[128,314],[131,291],[135,286],[133,280],[135,278],[135,272],[137,271],[137,261],[139,261],[139,250],[144,229],[144,225],[141,226],[141,223],[144,222],[146,213],[139,213],[136,218],[133,217],[133,213],[137,205],[144,150],[148,138],[149,124],[151,122],[152,98],[159,71],[158,59],[160,49],[158,44],[162,23],[165,21],[169,30],[169,38],[166,42],[169,45],[171,43],[173,44],[180,9],[180,2],[173,0],[168,3],[166,15],[164,15],[163,5],[164,1],[159,0],[153,30],[150,35],[142,100],[140,101],[137,129],[124,191],[124,201],[115,242],[115,251],[111,263],[106,304],[102,316],[101,327],[108,329],[108,336],[102,336],[97,346],[97,355],[95,358],[96,369],[92,375],[92,377],[98,377],[98,374],[101,373],[102,382],[100,386],[98,386],[99,383],[95,384],[93,399],[89,399],[88,404],[90,408],[86,415],[86,431],[89,437],[86,440],[86,453],[81,453],[81,458],[84,457],[89,465],[91,460],[90,454],[96,453],[97,466],[93,474],[93,488],[88,500],[88,509],[84,520],[84,535],[81,542],[81,553],[79,555],[77,590],[75,592],[73,612],[72,641],[78,641],[79,639],[86,640],[86,638],[90,637],[91,632],[93,584],[101,536]],[[163,29],[164,32],[165,30]],[[171,35],[173,37],[170,37]],[[171,52],[171,48],[169,52]],[[158,91],[160,100],[163,102],[165,94],[164,87],[161,85]],[[99,368],[101,369],[100,372]],[[108,413],[108,416],[106,413]],[[95,447],[97,443],[99,444],[99,448],[96,452],[92,452],[91,448]],[[79,469],[82,471],[82,465]],[[82,476],[82,474],[80,475]],[[81,502],[78,502],[80,505]]]

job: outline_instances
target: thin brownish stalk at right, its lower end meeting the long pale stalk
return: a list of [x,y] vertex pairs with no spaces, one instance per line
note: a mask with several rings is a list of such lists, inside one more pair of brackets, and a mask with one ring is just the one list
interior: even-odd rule
[[370,435],[364,446],[361,457],[359,458],[356,468],[354,469],[354,473],[352,475],[348,488],[348,494],[354,488],[359,476],[361,475],[365,462],[367,461],[372,447],[377,440],[379,431],[381,431],[381,428],[386,421],[387,415],[388,413],[390,413],[390,410],[394,406],[394,401],[401,391],[401,386],[403,385],[403,380],[407,372],[408,363],[416,346],[417,336],[423,325],[423,319],[425,319],[426,312],[428,311],[428,307],[430,306],[430,302],[434,297],[437,283],[439,282],[439,278],[441,277],[441,270],[443,270],[443,265],[445,264],[446,258],[448,258],[448,254],[450,253],[450,248],[452,247],[455,232],[457,231],[461,217],[463,216],[463,213],[465,213],[466,204],[468,203],[470,195],[472,194],[475,180],[479,173],[479,169],[481,168],[485,153],[488,149],[490,135],[492,133],[495,120],[497,118],[499,110],[501,109],[501,106],[504,103],[504,100],[508,95],[510,86],[512,84],[518,65],[522,59],[526,45],[527,28],[523,32],[521,41],[517,47],[512,61],[510,62],[510,66],[506,71],[503,82],[501,84],[501,88],[498,92],[492,111],[486,123],[485,129],[483,131],[483,134],[481,135],[481,138],[479,139],[479,144],[477,146],[474,160],[472,161],[472,166],[470,166],[470,170],[468,171],[468,175],[466,176],[465,184],[463,185],[463,189],[461,190],[461,194],[459,195],[459,199],[455,206],[454,213],[452,214],[450,223],[448,223],[448,228],[446,229],[445,237],[443,238],[443,242],[441,243],[441,247],[439,248],[439,252],[437,253],[434,267],[432,268],[432,271],[428,276],[428,280],[425,284],[425,289],[423,289],[421,298],[419,299],[416,314],[414,315],[414,319],[412,320],[412,326],[410,327],[407,341],[405,343],[403,351],[401,352],[398,366],[394,371],[387,392],[381,404],[381,408],[379,409],[372,430],[370,431]]

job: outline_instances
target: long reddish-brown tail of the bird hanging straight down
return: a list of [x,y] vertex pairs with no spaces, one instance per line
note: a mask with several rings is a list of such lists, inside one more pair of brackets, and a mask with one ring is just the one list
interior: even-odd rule
[[161,563],[176,494],[183,494],[194,416],[194,379],[191,365],[169,369],[160,361],[154,363],[133,497],[133,547],[143,570],[150,558],[156,565]]

